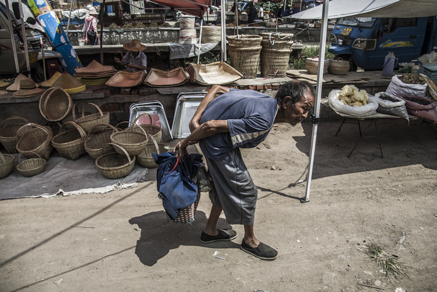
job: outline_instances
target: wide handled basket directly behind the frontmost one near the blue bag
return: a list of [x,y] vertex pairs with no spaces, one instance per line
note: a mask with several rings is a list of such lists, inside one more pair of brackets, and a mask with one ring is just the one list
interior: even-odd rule
[[[122,121],[118,125],[122,123],[128,123],[128,121]],[[111,142],[121,146],[129,155],[138,155],[140,154],[147,145],[149,137],[147,137],[146,131],[143,128],[138,126],[138,124],[133,123],[134,126],[138,127],[142,132],[136,132],[132,128],[125,129],[124,131],[118,131],[111,135]],[[118,127],[116,126],[116,128]],[[123,154],[120,148],[115,148],[119,154]]]

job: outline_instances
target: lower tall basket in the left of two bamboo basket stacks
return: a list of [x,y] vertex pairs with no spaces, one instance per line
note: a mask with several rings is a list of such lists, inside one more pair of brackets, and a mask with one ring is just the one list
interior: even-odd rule
[[234,48],[229,47],[231,66],[243,74],[244,78],[256,78],[259,57],[262,47]]

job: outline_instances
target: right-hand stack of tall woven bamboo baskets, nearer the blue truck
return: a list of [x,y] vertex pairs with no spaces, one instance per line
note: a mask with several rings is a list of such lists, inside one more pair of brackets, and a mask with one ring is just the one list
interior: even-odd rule
[[293,34],[260,33],[261,75],[263,77],[284,77],[290,60]]

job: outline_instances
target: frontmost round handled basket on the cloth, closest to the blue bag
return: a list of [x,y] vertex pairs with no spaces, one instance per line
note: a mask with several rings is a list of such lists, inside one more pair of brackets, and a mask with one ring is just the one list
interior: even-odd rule
[[[97,157],[96,165],[99,172],[108,178],[120,178],[132,172],[135,165],[135,156],[130,157],[126,150],[117,144],[108,143],[106,145],[112,145],[114,149],[119,149],[122,155],[111,152]],[[105,147],[101,149],[102,153],[104,153]]]

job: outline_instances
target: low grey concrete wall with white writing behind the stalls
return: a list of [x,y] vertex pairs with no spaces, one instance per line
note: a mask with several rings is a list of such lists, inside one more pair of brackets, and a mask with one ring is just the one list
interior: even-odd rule
[[[278,28],[278,31],[286,34],[298,34],[294,39],[302,40],[304,42],[319,42],[320,29],[309,28],[307,30],[296,29],[291,25],[287,27]],[[290,26],[290,27],[288,27]],[[197,35],[199,36],[199,28]],[[120,45],[130,42],[132,39],[138,39],[144,44],[151,43],[178,43],[179,42],[179,28],[146,28],[146,29],[125,29],[125,30],[109,30],[103,29],[103,45]],[[259,34],[259,33],[275,33],[276,28],[267,27],[239,27],[238,34]],[[331,30],[328,31],[328,35]],[[235,35],[236,28],[227,28],[227,35]],[[80,30],[68,31],[68,39],[73,46],[79,45],[79,39],[84,36]]]

